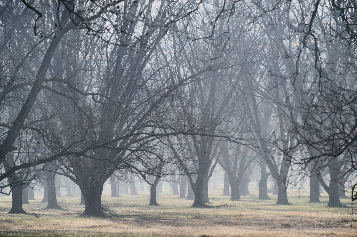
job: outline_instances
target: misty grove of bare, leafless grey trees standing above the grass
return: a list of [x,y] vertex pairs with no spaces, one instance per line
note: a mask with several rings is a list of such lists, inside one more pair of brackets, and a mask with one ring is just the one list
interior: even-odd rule
[[[109,179],[168,181],[207,207],[208,181],[277,204],[310,182],[357,198],[355,1],[0,2],[0,190],[9,213],[56,183],[100,216]],[[349,189],[347,192],[346,190]],[[346,193],[345,193],[346,192]],[[58,193],[57,193],[58,195]],[[27,200],[28,201],[28,200]],[[257,202],[259,202],[257,200]],[[160,204],[160,203],[159,203]]]

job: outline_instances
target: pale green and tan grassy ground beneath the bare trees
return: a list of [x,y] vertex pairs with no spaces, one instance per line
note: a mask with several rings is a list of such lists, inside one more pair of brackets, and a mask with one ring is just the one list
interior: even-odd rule
[[[160,206],[148,206],[149,194],[102,198],[106,211],[103,218],[80,217],[84,206],[80,196],[59,198],[63,211],[46,210],[41,197],[24,205],[28,215],[6,215],[11,197],[0,197],[0,236],[357,236],[357,224],[351,222],[351,208],[327,208],[328,198],[321,203],[308,203],[306,192],[289,190],[292,205],[275,205],[258,201],[257,193],[228,201],[221,191],[210,191],[212,205],[220,208],[191,208],[192,201],[160,194]],[[349,200],[342,200],[351,206]],[[233,206],[236,205],[236,206]]]

